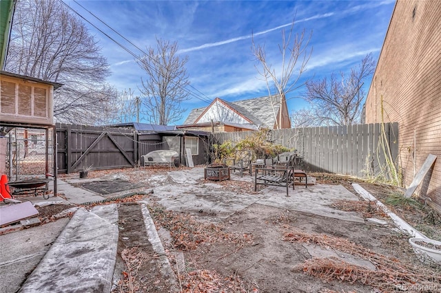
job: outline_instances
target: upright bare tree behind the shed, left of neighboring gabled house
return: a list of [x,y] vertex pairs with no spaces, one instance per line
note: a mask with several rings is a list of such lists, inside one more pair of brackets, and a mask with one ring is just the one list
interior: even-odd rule
[[185,109],[181,102],[188,100],[189,85],[185,64],[187,56],[178,56],[176,42],[163,41],[156,38],[156,50],[147,48],[147,53],[136,62],[145,70],[145,80],[141,78],[144,95],[141,102],[143,113],[154,124],[167,125],[182,118]]

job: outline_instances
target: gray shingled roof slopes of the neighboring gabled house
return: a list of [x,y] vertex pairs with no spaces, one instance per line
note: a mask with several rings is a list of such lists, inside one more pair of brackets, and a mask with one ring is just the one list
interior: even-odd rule
[[[249,120],[252,120],[256,126],[268,127],[269,129],[274,127],[275,118],[269,96],[250,98],[247,100],[237,100],[235,102],[227,102],[223,100],[223,102],[229,105],[229,107],[232,107],[238,111],[238,113],[241,113]],[[274,111],[276,111],[276,113],[278,112],[279,107],[280,105],[278,103],[274,105]],[[187,119],[185,119],[184,124],[194,124],[196,119],[201,116],[201,113],[203,113],[205,109],[207,109],[207,107],[192,109]]]

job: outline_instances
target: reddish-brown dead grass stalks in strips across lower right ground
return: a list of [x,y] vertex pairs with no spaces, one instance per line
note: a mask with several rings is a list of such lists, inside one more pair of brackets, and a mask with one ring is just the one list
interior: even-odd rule
[[307,233],[296,228],[290,228],[288,232],[285,232],[284,240],[314,243],[322,248],[346,252],[359,259],[369,261],[376,267],[376,270],[370,270],[341,259],[329,257],[307,259],[307,261],[294,268],[296,271],[303,271],[326,281],[339,280],[351,284],[360,283],[377,287],[386,292],[400,287],[411,287],[415,284],[424,285],[427,288],[441,287],[441,274],[433,275],[433,271],[429,271],[422,266],[402,263],[398,259],[373,252],[348,239],[325,234]]

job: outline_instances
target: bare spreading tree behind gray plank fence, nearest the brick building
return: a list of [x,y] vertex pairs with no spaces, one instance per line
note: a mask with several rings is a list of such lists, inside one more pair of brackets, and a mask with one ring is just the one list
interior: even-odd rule
[[365,100],[362,86],[374,70],[375,61],[371,54],[367,54],[358,66],[351,68],[349,76],[340,72],[340,78],[331,74],[329,81],[327,78],[308,81],[305,100],[309,102],[310,108],[295,112],[294,120],[303,126],[350,125],[360,122]]

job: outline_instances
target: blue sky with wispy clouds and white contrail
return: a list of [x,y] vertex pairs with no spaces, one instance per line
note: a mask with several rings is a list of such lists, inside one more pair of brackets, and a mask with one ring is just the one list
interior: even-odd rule
[[[378,60],[395,5],[394,0],[79,1],[83,9],[75,1],[65,3],[135,54],[141,52],[89,12],[143,50],[156,47],[156,36],[178,43],[181,54],[189,57],[189,90],[194,94],[182,105],[187,109],[183,119],[174,124],[182,124],[191,109],[206,107],[207,100],[216,97],[232,102],[267,95],[252,55],[253,33],[254,42],[265,44],[269,61],[277,67],[283,28],[288,31],[295,18],[294,32],[311,32],[313,52],[300,85],[332,72],[348,72],[368,53]],[[110,63],[112,76],[107,81],[140,95],[145,72],[133,56],[88,27]],[[369,84],[370,80],[365,86]],[[290,113],[306,106],[300,98],[303,91],[305,87],[300,87],[287,97]]]

